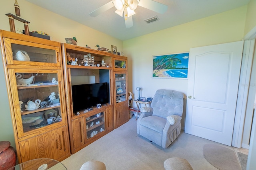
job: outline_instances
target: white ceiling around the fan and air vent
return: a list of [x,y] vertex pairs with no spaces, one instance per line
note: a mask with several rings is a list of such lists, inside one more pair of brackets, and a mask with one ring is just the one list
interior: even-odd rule
[[[120,40],[127,40],[189,21],[232,10],[248,4],[250,0],[155,0],[168,6],[159,14],[141,6],[132,16],[133,27],[126,28],[124,18],[115,13],[115,7],[97,17],[90,12],[111,0],[26,0],[56,14],[77,21]],[[141,0],[143,1],[143,0]],[[144,20],[158,16],[159,21],[146,23]]]

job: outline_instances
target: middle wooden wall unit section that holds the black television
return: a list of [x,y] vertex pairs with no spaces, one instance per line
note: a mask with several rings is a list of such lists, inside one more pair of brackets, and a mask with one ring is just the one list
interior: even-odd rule
[[[81,61],[84,59],[84,55],[88,54],[94,57],[95,64],[101,64],[102,59],[104,59],[106,66],[100,65],[98,67],[82,65]],[[86,47],[62,43],[62,55],[64,59],[63,65],[70,134],[70,149],[71,154],[74,154],[78,150],[86,147],[90,143],[96,141],[114,129],[112,54],[105,51],[98,51]],[[67,64],[68,55],[70,55],[71,58],[77,58],[77,63],[81,65]],[[110,96],[109,103],[102,105],[101,108],[96,108],[96,106],[94,106],[91,107],[92,110],[90,111],[86,112],[86,109],[83,109],[78,111],[78,114],[74,113],[72,85],[101,82],[108,82]],[[94,122],[94,125],[90,127],[92,122]],[[91,136],[93,131],[97,131],[97,133]]]

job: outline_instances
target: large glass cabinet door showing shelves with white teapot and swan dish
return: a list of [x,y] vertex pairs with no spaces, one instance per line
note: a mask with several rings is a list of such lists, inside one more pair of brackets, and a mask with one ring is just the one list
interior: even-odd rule
[[9,69],[9,74],[19,137],[65,121],[60,70]]

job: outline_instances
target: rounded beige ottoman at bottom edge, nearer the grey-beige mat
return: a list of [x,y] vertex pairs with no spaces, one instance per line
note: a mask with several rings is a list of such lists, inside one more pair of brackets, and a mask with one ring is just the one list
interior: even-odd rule
[[193,170],[186,159],[183,158],[168,158],[164,161],[165,170]]

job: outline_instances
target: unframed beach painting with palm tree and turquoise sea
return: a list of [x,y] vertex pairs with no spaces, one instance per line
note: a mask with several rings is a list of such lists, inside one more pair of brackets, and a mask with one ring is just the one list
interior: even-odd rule
[[188,55],[154,55],[152,78],[188,78]]

